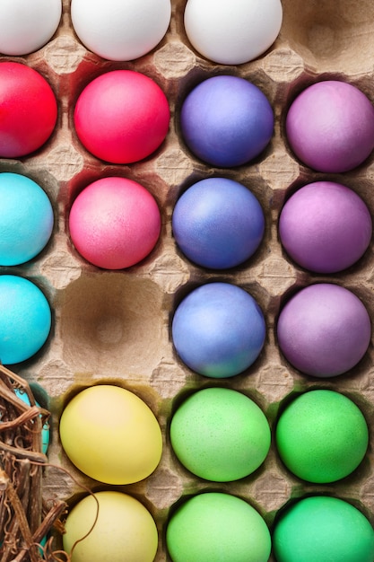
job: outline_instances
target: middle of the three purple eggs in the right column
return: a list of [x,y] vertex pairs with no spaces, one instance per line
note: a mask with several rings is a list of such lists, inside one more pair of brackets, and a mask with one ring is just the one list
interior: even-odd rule
[[309,183],[283,206],[279,235],[302,268],[335,273],[367,250],[372,233],[368,207],[352,189],[332,181]]

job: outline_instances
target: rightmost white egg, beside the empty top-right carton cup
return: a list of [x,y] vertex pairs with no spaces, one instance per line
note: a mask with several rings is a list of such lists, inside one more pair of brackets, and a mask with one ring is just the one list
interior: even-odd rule
[[265,52],[281,30],[280,0],[187,0],[187,38],[203,57],[241,65]]

